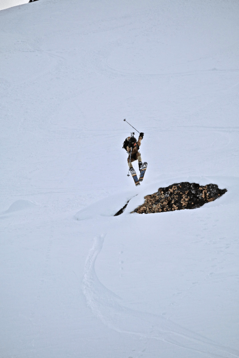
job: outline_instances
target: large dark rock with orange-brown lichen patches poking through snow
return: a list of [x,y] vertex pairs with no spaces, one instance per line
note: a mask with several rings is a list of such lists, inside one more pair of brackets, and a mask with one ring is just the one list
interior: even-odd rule
[[205,187],[189,182],[172,184],[167,188],[159,188],[153,194],[146,195],[144,203],[132,213],[150,214],[196,209],[205,203],[214,201],[226,191],[226,189],[219,189],[216,184],[208,184]]

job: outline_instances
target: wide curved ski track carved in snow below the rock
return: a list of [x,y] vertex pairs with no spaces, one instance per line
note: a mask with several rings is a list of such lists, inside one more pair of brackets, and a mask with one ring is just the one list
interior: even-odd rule
[[163,316],[131,310],[118,303],[119,297],[98,280],[95,262],[106,234],[98,235],[84,268],[82,290],[87,304],[107,327],[119,333],[135,334],[207,354],[208,357],[239,357],[239,352],[223,347],[214,341],[187,330]]

